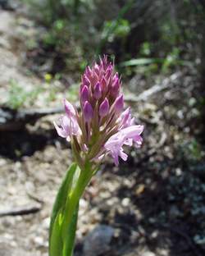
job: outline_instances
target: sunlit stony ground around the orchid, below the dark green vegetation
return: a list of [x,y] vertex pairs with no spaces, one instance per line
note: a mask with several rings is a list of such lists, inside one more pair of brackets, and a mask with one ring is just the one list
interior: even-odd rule
[[[67,89],[30,72],[25,51],[42,29],[21,6],[0,10],[0,21],[1,105],[58,107]],[[69,81],[75,80],[71,76]],[[76,256],[205,254],[198,86],[197,72],[189,66],[154,77],[153,84],[140,75],[125,82],[126,102],[145,126],[144,147],[131,150],[120,167],[107,158],[93,177],[80,200]],[[26,97],[16,99],[19,92]],[[0,131],[1,256],[48,255],[52,203],[71,163],[69,144],[53,130],[56,118],[49,115],[23,130]]]

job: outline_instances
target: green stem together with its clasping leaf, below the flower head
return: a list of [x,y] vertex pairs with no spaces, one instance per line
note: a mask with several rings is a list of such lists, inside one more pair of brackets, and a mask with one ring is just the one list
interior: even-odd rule
[[93,170],[89,162],[83,170],[73,164],[58,191],[52,210],[49,237],[50,256],[72,256],[78,218],[79,200],[88,185]]

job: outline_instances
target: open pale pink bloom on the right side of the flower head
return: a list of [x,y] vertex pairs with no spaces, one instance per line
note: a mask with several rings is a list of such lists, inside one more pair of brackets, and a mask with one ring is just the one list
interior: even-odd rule
[[124,161],[127,160],[127,154],[123,152],[124,144],[131,146],[133,142],[141,146],[143,139],[140,136],[144,130],[144,126],[130,126],[119,130],[115,135],[112,135],[104,145],[108,153],[111,153],[116,165],[119,164],[119,157]]

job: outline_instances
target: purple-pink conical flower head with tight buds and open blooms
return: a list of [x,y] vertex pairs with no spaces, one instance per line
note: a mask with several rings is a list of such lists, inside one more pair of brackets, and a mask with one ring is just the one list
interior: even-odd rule
[[110,154],[116,165],[127,154],[124,145],[139,148],[144,126],[134,123],[130,107],[124,110],[121,78],[112,62],[103,57],[87,66],[81,78],[80,112],[64,99],[65,115],[54,126],[57,134],[71,141],[80,167],[86,161],[101,162]]

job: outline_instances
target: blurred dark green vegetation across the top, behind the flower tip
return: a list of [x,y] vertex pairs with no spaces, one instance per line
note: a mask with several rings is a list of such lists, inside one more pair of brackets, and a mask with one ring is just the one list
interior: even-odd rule
[[131,63],[132,72],[136,66],[150,69],[148,64],[157,64],[157,68],[151,66],[153,72],[169,72],[175,66],[194,64],[200,54],[205,20],[200,2],[24,2],[36,10],[34,19],[46,29],[39,36],[39,46],[56,53],[69,71],[81,71],[94,55],[108,53],[116,56],[116,64],[122,62],[130,69]]

